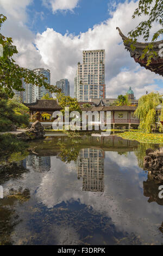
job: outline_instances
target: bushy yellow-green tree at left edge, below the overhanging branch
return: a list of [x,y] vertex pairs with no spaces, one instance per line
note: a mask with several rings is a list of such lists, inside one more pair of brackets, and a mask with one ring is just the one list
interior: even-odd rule
[[7,131],[14,124],[28,125],[29,108],[15,99],[9,100],[4,89],[0,90],[0,131]]

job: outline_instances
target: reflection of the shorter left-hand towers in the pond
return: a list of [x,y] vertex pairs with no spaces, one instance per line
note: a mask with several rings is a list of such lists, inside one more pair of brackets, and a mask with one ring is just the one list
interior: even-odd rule
[[43,172],[51,168],[50,156],[28,155],[26,159],[27,169],[32,166],[36,172]]

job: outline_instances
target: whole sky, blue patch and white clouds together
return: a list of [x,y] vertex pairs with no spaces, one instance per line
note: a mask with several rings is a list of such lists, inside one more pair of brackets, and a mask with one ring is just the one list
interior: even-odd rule
[[[131,86],[138,99],[146,91],[163,93],[163,78],[134,62],[116,30],[120,27],[127,35],[139,24],[140,18],[131,19],[137,4],[124,0],[0,0],[0,13],[8,17],[1,33],[13,38],[18,50],[14,59],[19,65],[51,70],[51,84],[67,78],[71,96],[82,51],[105,49],[106,97],[126,94]],[[154,23],[152,33],[156,29]]]

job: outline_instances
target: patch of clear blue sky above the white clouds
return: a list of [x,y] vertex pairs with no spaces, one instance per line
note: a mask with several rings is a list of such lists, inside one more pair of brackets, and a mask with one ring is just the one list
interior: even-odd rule
[[[111,2],[114,1],[110,0]],[[58,10],[53,14],[50,8],[42,4],[41,0],[35,0],[27,8],[27,13],[30,17],[27,26],[34,33],[42,33],[49,27],[62,35],[67,31],[78,35],[80,32],[86,32],[95,24],[107,20],[110,17],[109,8],[112,9],[108,0],[79,0],[78,6],[73,11]]]

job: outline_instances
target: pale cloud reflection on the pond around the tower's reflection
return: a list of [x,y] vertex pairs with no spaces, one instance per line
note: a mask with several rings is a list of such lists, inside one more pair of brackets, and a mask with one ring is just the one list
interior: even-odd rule
[[[122,166],[126,167],[126,172],[122,171]],[[137,232],[146,241],[150,240],[149,237],[152,241],[152,229],[159,227],[163,216],[161,218],[159,205],[153,203],[152,207],[143,197],[142,182],[145,178],[139,176],[143,170],[137,167],[134,153],[127,157],[114,152],[106,153],[104,193],[82,191],[82,181],[77,180],[76,169],[72,171],[72,168],[75,168],[74,163],[52,160],[51,171],[43,177],[37,190],[40,202],[50,208],[62,201],[79,198],[81,203],[111,217],[118,230]]]

